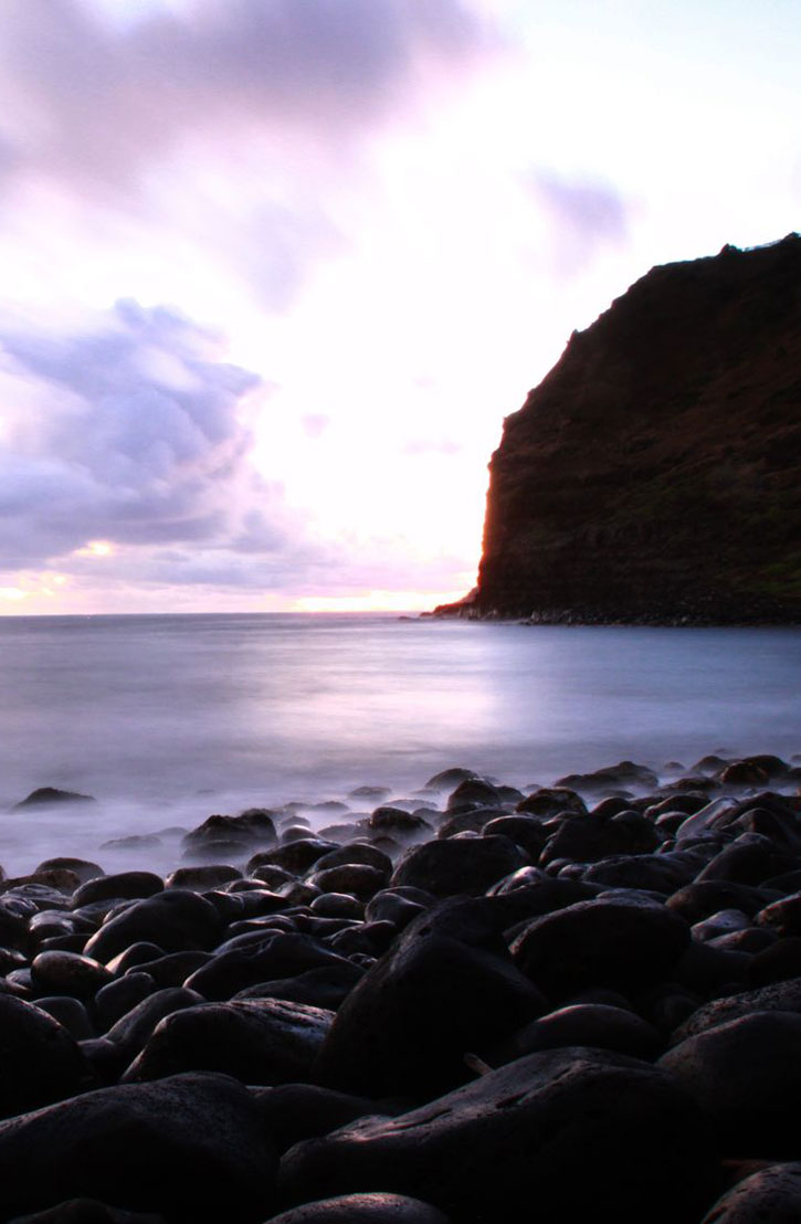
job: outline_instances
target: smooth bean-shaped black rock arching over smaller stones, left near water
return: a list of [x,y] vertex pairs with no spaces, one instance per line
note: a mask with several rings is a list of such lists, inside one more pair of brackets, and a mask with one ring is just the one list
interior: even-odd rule
[[[89,889],[94,883],[99,881],[93,880],[83,887]],[[165,952],[206,951],[213,947],[219,928],[219,917],[211,902],[196,892],[171,889],[136,901],[109,918],[85,951],[104,963],[141,940],[158,944]]]

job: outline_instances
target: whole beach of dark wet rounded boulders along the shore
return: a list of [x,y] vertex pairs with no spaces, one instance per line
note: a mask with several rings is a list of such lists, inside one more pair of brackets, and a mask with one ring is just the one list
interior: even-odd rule
[[797,786],[448,770],[5,880],[0,1219],[801,1219]]

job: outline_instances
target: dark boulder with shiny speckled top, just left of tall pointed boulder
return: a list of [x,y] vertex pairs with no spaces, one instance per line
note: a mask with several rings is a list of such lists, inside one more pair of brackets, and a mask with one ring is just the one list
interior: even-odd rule
[[180,1071],[219,1071],[243,1083],[307,1080],[333,1013],[285,999],[247,999],[174,1011],[122,1077],[160,1080]]

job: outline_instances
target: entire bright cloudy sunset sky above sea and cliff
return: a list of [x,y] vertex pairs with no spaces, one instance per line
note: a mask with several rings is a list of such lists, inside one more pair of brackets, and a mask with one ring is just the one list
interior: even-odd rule
[[797,0],[0,0],[0,613],[423,610],[652,266],[801,229]]

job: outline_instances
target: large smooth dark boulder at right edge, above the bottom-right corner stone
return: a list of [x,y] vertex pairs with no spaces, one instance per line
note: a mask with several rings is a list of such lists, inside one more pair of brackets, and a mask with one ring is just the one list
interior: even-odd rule
[[801,1016],[758,1011],[688,1037],[659,1065],[714,1119],[732,1157],[791,1159],[801,1143]]

